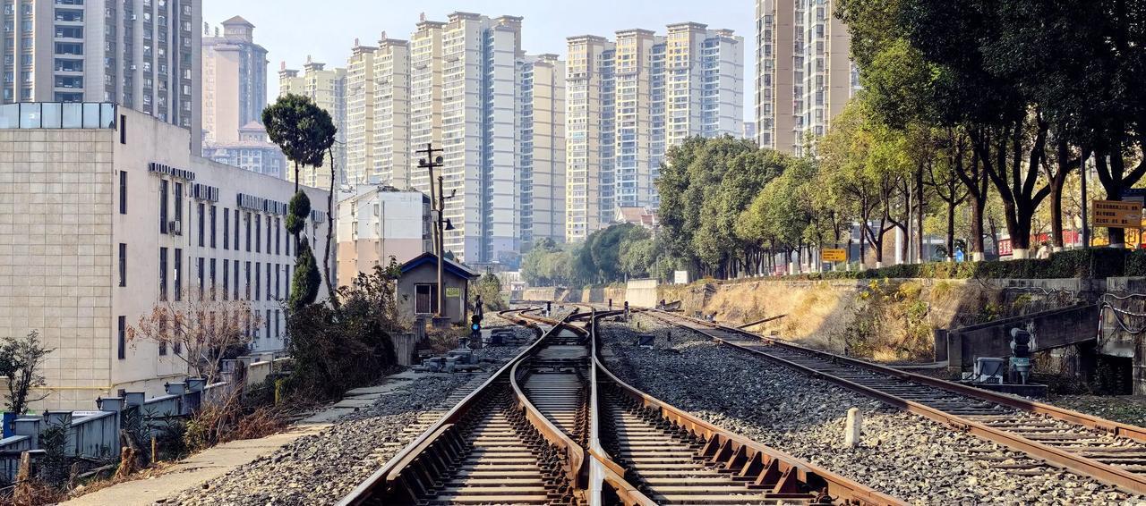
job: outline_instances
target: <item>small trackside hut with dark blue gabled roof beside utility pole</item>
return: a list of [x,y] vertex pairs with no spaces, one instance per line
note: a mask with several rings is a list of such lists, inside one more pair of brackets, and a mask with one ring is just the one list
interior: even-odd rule
[[[478,272],[453,260],[442,262],[441,283],[446,297],[442,299],[441,316],[454,324],[465,323],[470,280],[478,277]],[[398,278],[398,311],[408,322],[438,313],[438,256],[433,253],[423,253],[402,264]]]

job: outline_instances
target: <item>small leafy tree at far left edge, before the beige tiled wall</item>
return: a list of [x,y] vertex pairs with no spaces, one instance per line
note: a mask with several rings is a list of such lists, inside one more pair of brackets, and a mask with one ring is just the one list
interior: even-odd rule
[[5,400],[8,412],[24,414],[29,404],[48,397],[47,393],[37,395],[32,389],[47,385],[40,369],[52,351],[55,348],[46,348],[34,330],[23,338],[5,338],[0,343],[0,377],[8,379]]

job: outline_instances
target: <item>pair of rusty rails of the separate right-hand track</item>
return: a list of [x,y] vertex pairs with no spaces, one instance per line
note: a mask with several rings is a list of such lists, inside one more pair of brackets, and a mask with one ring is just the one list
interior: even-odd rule
[[[934,388],[939,388],[939,389],[942,389],[942,390],[948,390],[948,392],[951,392],[951,393],[956,393],[956,394],[959,394],[959,395],[965,395],[965,396],[973,397],[973,398],[980,398],[980,400],[984,400],[984,401],[997,402],[998,404],[1003,404],[1003,405],[1006,405],[1006,406],[1010,406],[1010,408],[1015,408],[1015,409],[1019,409],[1019,410],[1022,410],[1022,411],[1028,411],[1028,412],[1045,414],[1045,416],[1049,416],[1049,417],[1052,417],[1052,418],[1058,418],[1060,420],[1075,422],[1075,424],[1083,425],[1083,426],[1086,426],[1086,427],[1090,427],[1090,428],[1102,429],[1102,430],[1109,432],[1109,433],[1115,434],[1115,435],[1122,435],[1122,436],[1125,436],[1125,437],[1129,437],[1129,438],[1133,438],[1133,440],[1137,440],[1137,441],[1143,441],[1143,438],[1141,438],[1143,429],[1141,428],[1136,428],[1136,427],[1132,427],[1132,426],[1128,426],[1125,424],[1117,424],[1117,422],[1114,422],[1114,421],[1100,419],[1098,417],[1092,417],[1092,416],[1089,416],[1089,414],[1083,414],[1083,413],[1078,413],[1078,412],[1075,412],[1075,411],[1063,410],[1063,409],[1057,408],[1057,406],[1051,406],[1049,404],[1037,403],[1037,402],[1033,402],[1033,401],[1023,401],[1023,400],[1018,398],[1018,397],[1005,396],[1005,395],[1000,395],[1000,394],[997,394],[997,393],[994,393],[994,392],[980,390],[978,388],[967,387],[967,386],[964,386],[964,385],[958,385],[958,384],[955,384],[955,382],[951,382],[951,381],[944,381],[944,380],[940,380],[940,379],[935,379],[935,378],[931,378],[931,377],[925,377],[925,375],[921,375],[921,374],[913,374],[913,373],[910,373],[910,372],[900,371],[900,370],[886,367],[886,366],[882,366],[882,365],[872,364],[872,363],[864,362],[864,361],[858,361],[858,359],[850,358],[850,357],[842,357],[842,356],[834,355],[834,354],[826,353],[826,351],[814,350],[814,349],[804,348],[802,346],[793,345],[793,343],[790,343],[790,342],[785,342],[785,341],[780,341],[780,340],[776,340],[776,339],[771,339],[771,338],[766,338],[763,335],[754,334],[754,333],[746,332],[746,331],[743,331],[743,330],[739,330],[739,329],[729,327],[729,326],[715,324],[715,323],[712,323],[712,322],[705,322],[702,319],[691,318],[691,317],[686,317],[686,316],[682,316],[682,315],[672,315],[670,317],[668,317],[668,316],[666,316],[667,315],[666,313],[658,311],[658,310],[654,310],[654,309],[650,309],[650,310],[644,311],[644,313],[649,313],[649,314],[652,314],[652,315],[658,315],[659,319],[668,322],[668,323],[673,323],[673,318],[680,318],[680,319],[684,319],[686,322],[690,322],[692,324],[698,324],[698,325],[701,325],[701,326],[706,326],[706,327],[711,327],[711,329],[716,329],[716,330],[721,330],[721,331],[724,331],[724,332],[733,332],[733,333],[738,333],[738,334],[749,335],[753,339],[763,341],[764,343],[768,343],[768,345],[775,345],[775,346],[778,346],[778,347],[782,347],[782,348],[785,348],[785,349],[791,349],[791,350],[800,351],[800,353],[803,353],[803,354],[807,354],[807,355],[811,355],[811,356],[816,356],[816,357],[821,357],[821,358],[826,358],[826,359],[829,359],[831,362],[834,362],[834,363],[838,363],[838,364],[846,364],[846,365],[850,365],[850,366],[855,366],[855,367],[859,367],[859,369],[865,369],[865,370],[869,370],[869,371],[872,371],[872,372],[877,372],[877,373],[890,375],[890,377],[894,377],[894,378],[897,378],[897,379],[919,382],[919,384],[926,385],[928,387],[934,387]],[[682,326],[680,324],[675,324],[675,325]],[[699,333],[701,333],[701,334],[704,334],[704,335],[706,335],[706,337],[708,337],[708,338],[711,338],[711,339],[713,339],[713,340],[715,340],[715,341],[717,341],[720,343],[723,343],[725,346],[730,346],[730,347],[732,347],[735,349],[747,351],[747,353],[751,353],[753,355],[762,356],[762,357],[764,357],[767,359],[774,361],[774,362],[779,363],[782,365],[785,365],[785,366],[799,370],[799,371],[801,371],[801,372],[803,372],[803,373],[806,373],[808,375],[811,375],[814,378],[821,378],[821,379],[824,379],[824,380],[832,381],[832,382],[834,382],[837,385],[840,385],[840,386],[843,386],[846,388],[849,388],[849,389],[863,393],[863,394],[865,394],[865,395],[868,395],[870,397],[880,400],[880,401],[882,401],[885,403],[888,403],[890,405],[894,405],[894,406],[900,408],[902,410],[905,410],[908,412],[920,414],[920,416],[924,416],[924,417],[929,418],[932,420],[935,420],[935,421],[939,421],[941,424],[948,425],[950,427],[955,427],[957,429],[960,429],[963,432],[972,434],[972,435],[974,435],[976,437],[980,437],[982,440],[1006,445],[1006,446],[1008,446],[1008,448],[1011,448],[1013,450],[1018,450],[1018,451],[1021,451],[1023,453],[1030,454],[1033,457],[1044,459],[1047,462],[1061,466],[1063,468],[1070,469],[1070,471],[1076,472],[1078,474],[1091,476],[1091,477],[1093,477],[1093,479],[1096,479],[1098,481],[1101,481],[1101,482],[1110,484],[1110,485],[1115,485],[1117,488],[1121,488],[1123,490],[1127,490],[1127,491],[1130,491],[1130,492],[1133,492],[1133,493],[1146,493],[1146,475],[1135,474],[1135,473],[1131,473],[1131,472],[1128,472],[1128,471],[1124,471],[1124,469],[1120,469],[1120,468],[1117,468],[1115,466],[1102,464],[1102,462],[1099,462],[1099,461],[1097,461],[1094,459],[1091,459],[1091,458],[1086,458],[1086,457],[1083,457],[1083,456],[1080,456],[1080,454],[1075,454],[1075,453],[1072,453],[1072,452],[1068,452],[1068,451],[1065,451],[1065,450],[1060,450],[1058,448],[1053,448],[1053,446],[1050,446],[1050,445],[1046,445],[1046,444],[1043,444],[1043,443],[1038,443],[1036,441],[1031,441],[1029,438],[1026,438],[1026,437],[1022,437],[1022,436],[1019,436],[1019,435],[1015,435],[1015,434],[1012,434],[1012,433],[1008,433],[1008,432],[1004,432],[1004,430],[1000,430],[1000,429],[997,429],[997,428],[994,428],[994,427],[989,427],[989,426],[987,426],[984,424],[981,424],[981,422],[975,421],[975,420],[967,419],[967,418],[958,416],[958,414],[948,413],[948,412],[944,412],[944,411],[942,411],[940,409],[935,409],[935,408],[932,408],[932,406],[918,403],[916,401],[905,400],[905,398],[898,397],[896,395],[878,390],[878,389],[872,388],[872,387],[868,387],[868,386],[864,386],[864,385],[856,384],[856,382],[847,380],[845,378],[840,378],[840,377],[835,377],[835,375],[832,375],[832,374],[827,374],[827,373],[825,373],[823,371],[817,371],[817,370],[808,367],[808,366],[806,366],[803,364],[799,364],[796,362],[792,362],[792,361],[778,357],[776,355],[770,355],[770,354],[768,354],[766,351],[762,351],[762,350],[758,350],[758,349],[753,349],[753,348],[748,348],[748,347],[738,345],[736,342],[729,341],[727,339],[722,339],[722,338],[720,338],[717,335],[714,335],[714,334],[712,334],[709,332],[705,332],[705,331],[699,330],[699,329],[691,329],[691,327],[689,327],[689,329],[693,330],[696,332],[699,332]],[[1137,436],[1132,436],[1132,435],[1137,435]]]

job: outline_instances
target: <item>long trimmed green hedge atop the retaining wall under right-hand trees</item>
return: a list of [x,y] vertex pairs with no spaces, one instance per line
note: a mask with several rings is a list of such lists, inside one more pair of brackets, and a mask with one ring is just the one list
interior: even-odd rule
[[1073,250],[1047,259],[903,263],[881,269],[783,276],[784,279],[1053,279],[1146,276],[1146,251],[1115,248]]

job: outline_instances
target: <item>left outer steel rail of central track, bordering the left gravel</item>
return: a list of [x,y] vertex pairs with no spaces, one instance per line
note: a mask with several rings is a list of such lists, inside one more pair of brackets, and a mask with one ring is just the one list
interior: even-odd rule
[[[519,316],[524,316],[527,313],[535,311],[537,308],[526,308],[520,310],[503,311],[504,314],[518,313]],[[572,316],[572,315],[570,315]],[[541,319],[540,317],[529,317],[532,319]],[[567,317],[566,317],[567,318]],[[548,322],[557,321],[548,319]],[[465,414],[470,409],[474,408],[478,400],[487,395],[490,390],[490,386],[496,381],[502,380],[504,375],[510,374],[513,366],[519,363],[525,357],[536,353],[537,349],[544,343],[548,335],[554,334],[559,331],[560,326],[555,325],[547,332],[541,339],[537,339],[526,349],[521,350],[517,356],[510,359],[505,365],[500,367],[496,372],[489,375],[478,388],[466,395],[461,402],[454,405],[449,411],[442,414],[434,424],[426,428],[418,437],[410,442],[406,448],[400,450],[397,454],[391,457],[378,471],[375,471],[367,477],[366,481],[355,487],[350,493],[344,496],[337,504],[338,506],[360,506],[369,504],[374,498],[382,497],[387,492],[387,488],[395,483],[395,481],[401,475],[402,471],[409,466],[418,454],[424,450],[434,444],[434,442],[440,441],[442,437],[450,434],[452,428],[455,422],[457,422],[463,414]]]

